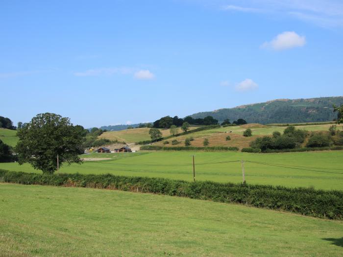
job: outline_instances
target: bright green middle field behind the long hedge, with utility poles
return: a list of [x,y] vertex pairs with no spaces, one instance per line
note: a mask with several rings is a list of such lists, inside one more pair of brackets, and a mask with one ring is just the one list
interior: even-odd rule
[[[279,154],[188,151],[121,154],[93,153],[82,155],[82,157],[111,159],[72,164],[71,166],[64,165],[60,172],[79,172],[85,174],[112,173],[116,175],[165,177],[192,181],[192,155],[195,155],[196,160],[196,180],[242,182],[240,162],[219,164],[218,162],[244,160],[288,166],[280,167],[246,162],[245,179],[250,184],[343,189],[343,151]],[[14,171],[41,172],[34,170],[29,164],[21,166],[17,163],[2,163],[0,168]]]

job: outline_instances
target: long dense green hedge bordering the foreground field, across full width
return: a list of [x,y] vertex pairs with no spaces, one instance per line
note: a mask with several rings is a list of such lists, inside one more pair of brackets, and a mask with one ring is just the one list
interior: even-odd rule
[[0,170],[5,182],[24,185],[92,187],[158,193],[238,203],[248,206],[283,210],[319,218],[343,219],[343,191],[288,188],[264,185],[187,182],[164,178],[125,177],[112,174],[37,174]]

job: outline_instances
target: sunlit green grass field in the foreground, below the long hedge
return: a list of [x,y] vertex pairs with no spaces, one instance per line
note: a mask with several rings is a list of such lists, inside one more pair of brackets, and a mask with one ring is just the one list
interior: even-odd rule
[[91,188],[0,195],[0,256],[342,256],[342,221]]

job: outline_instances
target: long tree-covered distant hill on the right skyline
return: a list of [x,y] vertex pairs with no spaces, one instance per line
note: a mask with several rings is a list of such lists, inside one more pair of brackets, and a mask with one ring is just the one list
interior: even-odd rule
[[248,123],[297,123],[328,121],[337,118],[333,104],[343,104],[343,96],[308,99],[276,99],[264,103],[247,104],[190,115],[193,118],[212,116],[222,122],[244,118]]

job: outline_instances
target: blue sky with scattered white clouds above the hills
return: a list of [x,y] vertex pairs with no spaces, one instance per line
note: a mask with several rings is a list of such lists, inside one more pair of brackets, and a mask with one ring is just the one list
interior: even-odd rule
[[343,95],[342,0],[0,2],[0,116],[86,128]]

